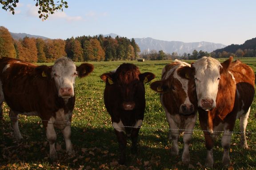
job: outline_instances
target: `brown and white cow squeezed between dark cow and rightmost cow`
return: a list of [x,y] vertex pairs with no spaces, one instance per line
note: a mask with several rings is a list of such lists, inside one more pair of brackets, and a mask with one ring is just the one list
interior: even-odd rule
[[160,93],[160,101],[170,127],[171,154],[179,154],[178,137],[184,132],[182,162],[188,164],[189,142],[197,119],[196,89],[190,65],[179,60],[171,62],[162,70],[162,79],[153,82],[150,87]]

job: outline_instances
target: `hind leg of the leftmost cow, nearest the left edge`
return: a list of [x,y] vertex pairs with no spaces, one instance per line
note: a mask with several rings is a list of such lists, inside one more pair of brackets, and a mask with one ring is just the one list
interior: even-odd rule
[[20,134],[20,129],[19,129],[19,113],[14,112],[12,109],[9,111],[9,117],[11,120],[12,128],[14,131],[14,137],[17,141],[20,139],[23,139],[22,135]]

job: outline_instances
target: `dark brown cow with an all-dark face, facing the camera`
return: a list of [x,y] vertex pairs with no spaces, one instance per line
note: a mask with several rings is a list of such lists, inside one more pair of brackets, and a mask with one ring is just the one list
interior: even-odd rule
[[155,78],[150,72],[140,73],[131,63],[121,64],[115,71],[104,73],[100,78],[105,82],[104,104],[111,116],[112,126],[119,143],[119,163],[125,163],[127,137],[131,137],[131,153],[137,152],[137,139],[144,119],[145,88]]

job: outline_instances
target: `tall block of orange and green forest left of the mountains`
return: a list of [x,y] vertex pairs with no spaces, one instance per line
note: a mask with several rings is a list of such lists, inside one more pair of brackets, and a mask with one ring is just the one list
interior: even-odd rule
[[54,62],[67,56],[74,62],[135,60],[140,47],[126,37],[81,36],[70,39],[28,38],[14,40],[5,27],[0,27],[0,57],[27,62]]

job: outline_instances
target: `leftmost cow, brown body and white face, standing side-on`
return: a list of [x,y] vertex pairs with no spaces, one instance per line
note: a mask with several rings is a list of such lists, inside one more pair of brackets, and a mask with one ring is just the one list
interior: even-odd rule
[[18,115],[39,116],[49,142],[50,158],[57,159],[54,128],[62,131],[67,153],[74,154],[70,137],[75,80],[77,76],[87,76],[92,70],[93,65],[83,63],[76,66],[66,57],[58,58],[53,66],[37,66],[19,59],[1,58],[0,104],[5,101],[10,107],[9,117],[16,140],[23,138]]

